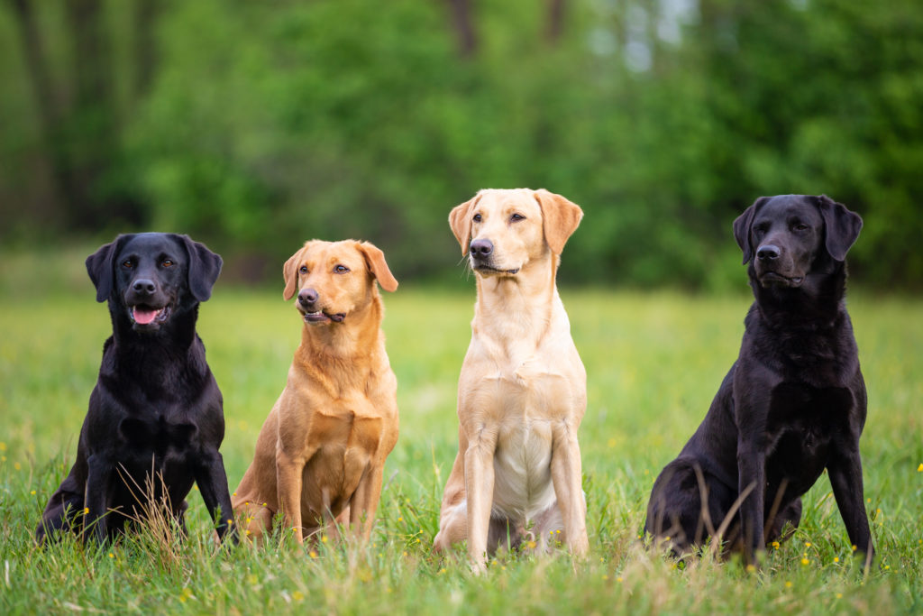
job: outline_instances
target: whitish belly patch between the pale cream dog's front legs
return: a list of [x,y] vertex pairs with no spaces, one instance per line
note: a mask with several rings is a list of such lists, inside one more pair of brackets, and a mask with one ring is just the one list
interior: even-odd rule
[[524,520],[554,501],[549,423],[526,420],[502,431],[494,454],[494,513]]

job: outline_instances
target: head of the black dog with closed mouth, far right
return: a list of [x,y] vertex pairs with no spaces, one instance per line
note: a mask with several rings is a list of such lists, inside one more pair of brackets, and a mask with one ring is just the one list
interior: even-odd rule
[[862,218],[826,195],[761,197],[734,221],[744,264],[763,287],[798,287],[818,260],[842,262]]

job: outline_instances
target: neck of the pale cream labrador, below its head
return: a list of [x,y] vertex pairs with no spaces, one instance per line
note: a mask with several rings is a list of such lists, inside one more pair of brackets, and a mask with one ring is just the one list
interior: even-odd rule
[[530,261],[513,276],[477,275],[477,303],[472,329],[504,348],[526,344],[537,347],[556,322],[557,255],[550,251]]

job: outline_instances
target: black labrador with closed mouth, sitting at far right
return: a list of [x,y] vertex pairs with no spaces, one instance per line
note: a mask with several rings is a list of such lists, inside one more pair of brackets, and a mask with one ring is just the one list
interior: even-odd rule
[[800,497],[826,468],[849,539],[871,561],[859,460],[866,389],[844,303],[846,251],[861,228],[825,195],[761,197],[734,221],[756,301],[708,414],[653,484],[644,529],[669,537],[674,553],[726,519],[727,547],[757,563],[797,527]]

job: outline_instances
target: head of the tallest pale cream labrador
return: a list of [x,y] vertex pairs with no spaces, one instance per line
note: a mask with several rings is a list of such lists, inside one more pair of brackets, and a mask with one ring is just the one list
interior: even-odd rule
[[544,188],[485,189],[456,206],[449,225],[482,276],[515,276],[529,262],[560,255],[583,211]]

